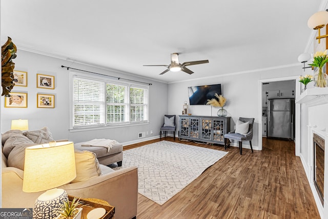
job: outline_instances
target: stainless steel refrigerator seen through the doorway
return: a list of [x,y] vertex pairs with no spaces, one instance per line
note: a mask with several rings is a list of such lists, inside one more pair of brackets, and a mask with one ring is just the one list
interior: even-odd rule
[[294,98],[268,100],[268,137],[294,140]]

